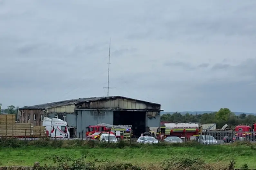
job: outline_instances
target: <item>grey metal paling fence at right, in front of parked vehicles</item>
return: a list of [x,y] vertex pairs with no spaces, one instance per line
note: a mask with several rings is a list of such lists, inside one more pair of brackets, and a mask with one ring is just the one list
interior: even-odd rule
[[255,142],[256,132],[205,131],[198,137],[204,144],[226,144],[233,142]]

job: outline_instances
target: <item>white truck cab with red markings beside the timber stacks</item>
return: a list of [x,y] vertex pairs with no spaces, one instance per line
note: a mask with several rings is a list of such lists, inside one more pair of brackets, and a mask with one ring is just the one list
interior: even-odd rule
[[[46,136],[56,138],[69,138],[67,122],[57,118],[43,118],[43,126],[46,127]],[[56,136],[55,136],[56,134]]]

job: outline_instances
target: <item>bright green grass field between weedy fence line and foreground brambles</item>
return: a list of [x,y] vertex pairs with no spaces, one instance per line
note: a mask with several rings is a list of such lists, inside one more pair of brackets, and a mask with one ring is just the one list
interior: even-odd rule
[[[128,162],[140,166],[150,163],[162,164],[162,162],[175,162],[179,159],[198,159],[203,164],[225,165],[230,160],[235,160],[235,166],[240,168],[248,164],[249,168],[256,168],[256,149],[247,145],[218,145],[218,146],[144,146],[141,148],[50,148],[26,146],[19,148],[1,148],[0,166],[32,166],[35,161],[40,164],[53,164],[51,157],[74,157],[86,156],[86,160],[108,159],[113,162]],[[198,161],[197,160],[197,161]],[[200,164],[200,163],[199,163]]]

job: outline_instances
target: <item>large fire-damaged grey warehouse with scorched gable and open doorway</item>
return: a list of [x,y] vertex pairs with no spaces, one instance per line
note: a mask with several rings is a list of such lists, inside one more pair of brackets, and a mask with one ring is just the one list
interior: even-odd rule
[[138,135],[147,127],[160,125],[161,105],[122,96],[79,98],[26,106],[19,109],[19,123],[42,125],[43,117],[59,118],[70,127],[70,137],[78,137],[89,125],[107,123],[132,125]]

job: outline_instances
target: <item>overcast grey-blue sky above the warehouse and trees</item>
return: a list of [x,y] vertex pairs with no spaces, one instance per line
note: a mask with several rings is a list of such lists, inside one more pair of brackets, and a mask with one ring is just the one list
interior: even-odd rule
[[0,103],[109,95],[256,112],[255,0],[0,0]]

